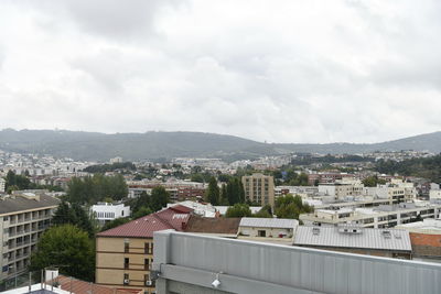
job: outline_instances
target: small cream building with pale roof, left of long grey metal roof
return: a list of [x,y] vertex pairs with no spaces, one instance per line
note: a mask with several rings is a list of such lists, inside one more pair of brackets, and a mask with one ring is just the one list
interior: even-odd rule
[[298,226],[295,219],[244,217],[237,238],[292,244]]

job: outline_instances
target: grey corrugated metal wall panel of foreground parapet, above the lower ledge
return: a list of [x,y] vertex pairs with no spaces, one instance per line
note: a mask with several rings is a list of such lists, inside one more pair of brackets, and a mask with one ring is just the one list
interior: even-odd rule
[[325,293],[441,293],[441,264],[158,233],[168,235],[154,241],[170,264]]

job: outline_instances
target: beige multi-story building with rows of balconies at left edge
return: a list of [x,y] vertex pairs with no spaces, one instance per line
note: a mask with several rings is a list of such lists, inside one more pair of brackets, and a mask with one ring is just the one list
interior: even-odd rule
[[0,281],[26,270],[58,203],[54,197],[35,193],[0,197]]

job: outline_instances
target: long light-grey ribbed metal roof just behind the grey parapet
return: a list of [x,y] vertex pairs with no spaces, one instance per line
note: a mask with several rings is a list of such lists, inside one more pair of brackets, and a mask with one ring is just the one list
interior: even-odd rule
[[300,226],[295,232],[294,246],[412,250],[409,232],[406,230],[355,227]]

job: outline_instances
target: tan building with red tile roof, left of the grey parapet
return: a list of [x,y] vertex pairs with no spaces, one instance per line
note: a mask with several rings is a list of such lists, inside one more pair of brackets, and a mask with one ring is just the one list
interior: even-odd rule
[[98,233],[96,283],[154,293],[154,282],[150,276],[153,232],[183,230],[192,210],[174,206]]

